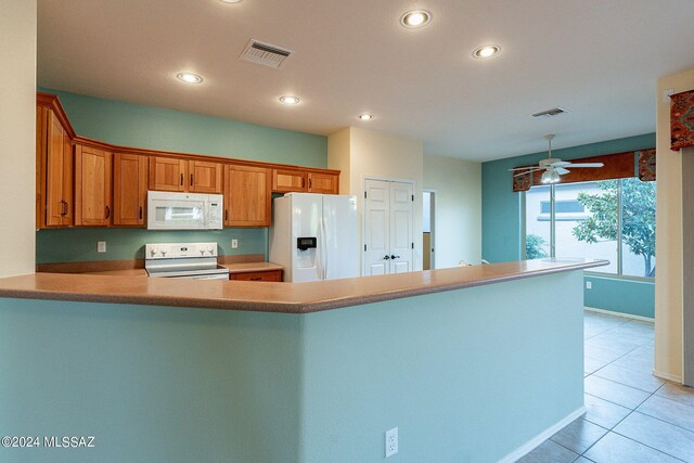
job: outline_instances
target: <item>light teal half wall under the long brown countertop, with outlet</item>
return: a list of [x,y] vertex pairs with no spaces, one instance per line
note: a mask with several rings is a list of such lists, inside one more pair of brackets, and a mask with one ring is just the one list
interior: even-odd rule
[[2,435],[97,437],[0,461],[369,463],[395,426],[394,461],[499,461],[583,404],[580,286],[305,316],[0,299]]

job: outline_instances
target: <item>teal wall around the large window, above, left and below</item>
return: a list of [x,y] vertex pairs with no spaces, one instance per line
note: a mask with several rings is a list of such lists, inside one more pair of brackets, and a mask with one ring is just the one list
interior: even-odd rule
[[[655,133],[611,140],[581,146],[552,151],[553,157],[578,159],[601,154],[621,153],[655,146]],[[547,152],[507,157],[481,165],[483,206],[483,258],[490,262],[503,262],[522,258],[520,194],[512,191],[512,172],[509,169],[527,166],[547,157]],[[597,280],[597,278],[595,278]],[[654,317],[654,283],[615,280],[593,284],[593,288],[609,287],[611,292],[586,290],[586,305],[642,317]],[[643,297],[643,299],[637,299]],[[628,301],[638,300],[632,306]],[[633,308],[632,308],[633,307]]]

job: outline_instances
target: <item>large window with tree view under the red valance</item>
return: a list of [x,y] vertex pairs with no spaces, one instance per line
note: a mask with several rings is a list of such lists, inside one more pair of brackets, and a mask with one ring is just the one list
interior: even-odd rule
[[607,259],[596,272],[655,275],[655,182],[603,180],[526,192],[525,254]]

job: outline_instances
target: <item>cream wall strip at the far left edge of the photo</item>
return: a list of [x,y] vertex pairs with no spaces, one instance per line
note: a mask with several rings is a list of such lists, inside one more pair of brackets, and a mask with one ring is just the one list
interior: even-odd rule
[[34,273],[36,0],[3,0],[0,56],[0,276]]

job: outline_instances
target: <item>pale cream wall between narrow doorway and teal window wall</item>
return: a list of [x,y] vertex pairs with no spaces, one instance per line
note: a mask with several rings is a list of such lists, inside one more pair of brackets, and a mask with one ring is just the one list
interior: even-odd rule
[[424,188],[436,191],[434,267],[481,260],[481,164],[424,156]]

